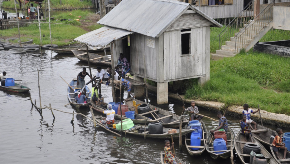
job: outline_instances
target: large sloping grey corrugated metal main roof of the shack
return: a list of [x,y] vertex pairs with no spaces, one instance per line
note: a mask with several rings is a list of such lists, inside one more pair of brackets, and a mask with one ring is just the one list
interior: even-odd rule
[[122,0],[98,23],[158,37],[189,5],[171,0]]

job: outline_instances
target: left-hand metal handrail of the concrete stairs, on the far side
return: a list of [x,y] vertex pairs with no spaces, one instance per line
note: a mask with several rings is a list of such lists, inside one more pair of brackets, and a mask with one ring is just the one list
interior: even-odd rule
[[[253,5],[254,5],[254,2],[255,2],[256,0],[252,0],[251,2],[249,2],[248,4],[247,4],[247,6],[245,6],[244,8],[243,8],[243,10],[241,11],[241,12],[239,12],[239,14],[236,16],[236,17],[234,17],[234,19],[223,29],[223,31],[222,32],[220,32],[220,34],[217,36],[217,37],[219,37],[219,47],[220,48],[222,48],[221,47],[221,44],[220,44],[220,39],[221,39],[221,37],[224,37],[224,39],[223,39],[223,42],[222,42],[222,44],[224,44],[224,40],[225,40],[225,38],[227,39],[228,37],[230,37],[230,36],[234,36],[233,34],[234,34],[234,30],[233,30],[233,32],[231,31],[231,29],[232,29],[232,27],[235,25],[235,24],[237,24],[238,25],[238,23],[237,23],[237,21],[239,21],[239,18],[241,17],[241,16],[244,16],[245,15],[245,12],[249,12],[249,9],[250,9],[250,7],[252,6],[252,8],[254,7]],[[240,27],[240,25],[239,25],[239,27]],[[235,28],[235,29],[239,29],[239,27],[237,26],[237,28]],[[230,32],[228,32],[228,31],[230,31]],[[226,33],[227,32],[227,33]],[[224,35],[227,35],[226,37],[224,36]]]

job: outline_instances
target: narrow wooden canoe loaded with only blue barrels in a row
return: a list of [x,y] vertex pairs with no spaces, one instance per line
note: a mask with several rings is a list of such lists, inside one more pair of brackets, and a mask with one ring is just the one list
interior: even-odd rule
[[192,150],[191,148],[198,148],[198,147],[191,146],[190,145],[190,142],[191,142],[190,137],[188,137],[187,135],[185,136],[185,147],[187,149],[187,152],[191,156],[199,156],[205,151],[205,145],[206,145],[206,140],[207,140],[207,130],[206,130],[205,123],[202,120],[200,122],[201,122],[201,126],[202,126],[202,132],[204,135],[204,137],[202,137],[202,139],[201,139],[200,150]]

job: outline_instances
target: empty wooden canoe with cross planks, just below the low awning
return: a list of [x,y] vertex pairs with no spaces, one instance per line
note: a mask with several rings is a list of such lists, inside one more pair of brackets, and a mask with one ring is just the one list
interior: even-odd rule
[[[88,56],[86,52],[71,50],[74,53],[75,57],[78,58],[82,62],[88,62]],[[111,58],[98,55],[95,53],[89,53],[89,62],[92,64],[103,65],[103,66],[111,66]]]

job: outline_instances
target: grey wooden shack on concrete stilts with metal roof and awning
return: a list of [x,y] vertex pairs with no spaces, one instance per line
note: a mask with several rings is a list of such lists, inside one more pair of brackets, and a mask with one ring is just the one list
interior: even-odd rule
[[[123,0],[98,23],[105,27],[75,40],[90,47],[111,43],[112,65],[123,53],[134,79],[157,82],[158,104],[168,102],[168,82],[210,79],[210,26],[222,25],[189,3]],[[144,89],[134,92],[142,95]]]

